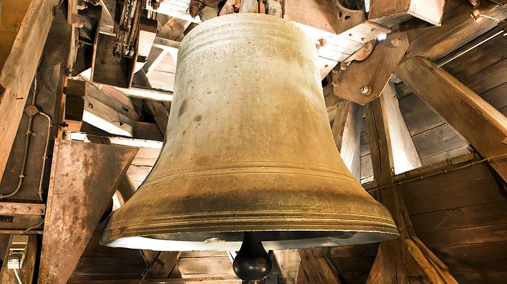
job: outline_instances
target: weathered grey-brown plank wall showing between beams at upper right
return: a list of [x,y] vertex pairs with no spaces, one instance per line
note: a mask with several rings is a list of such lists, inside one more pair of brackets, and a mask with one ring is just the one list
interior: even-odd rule
[[[443,66],[449,73],[507,115],[507,37],[498,35]],[[399,108],[423,166],[467,154],[467,141],[439,114],[408,89],[397,84]],[[465,118],[466,119],[466,118]],[[366,119],[361,127],[361,181],[373,179]]]

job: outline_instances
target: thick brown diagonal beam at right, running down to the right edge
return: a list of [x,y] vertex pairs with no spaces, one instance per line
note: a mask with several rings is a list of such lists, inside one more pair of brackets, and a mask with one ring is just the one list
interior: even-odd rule
[[[447,71],[422,57],[413,57],[398,66],[397,75],[483,157],[507,154],[506,116]],[[507,181],[507,158],[490,164]]]

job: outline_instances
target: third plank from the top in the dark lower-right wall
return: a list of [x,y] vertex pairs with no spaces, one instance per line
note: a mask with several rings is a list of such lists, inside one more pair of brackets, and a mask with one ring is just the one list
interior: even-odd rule
[[507,240],[507,224],[422,232],[419,237],[429,247],[501,242]]

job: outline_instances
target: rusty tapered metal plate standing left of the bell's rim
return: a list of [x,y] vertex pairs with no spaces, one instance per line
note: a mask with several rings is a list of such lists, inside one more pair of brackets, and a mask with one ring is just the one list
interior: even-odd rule
[[67,283],[138,148],[56,140],[39,283]]

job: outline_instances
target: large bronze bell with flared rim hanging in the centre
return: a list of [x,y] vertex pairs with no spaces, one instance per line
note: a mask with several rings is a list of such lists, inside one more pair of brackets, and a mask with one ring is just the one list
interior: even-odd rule
[[267,249],[399,236],[336,149],[315,44],[290,21],[240,13],[181,42],[163,150],[101,244],[237,251],[251,231]]

